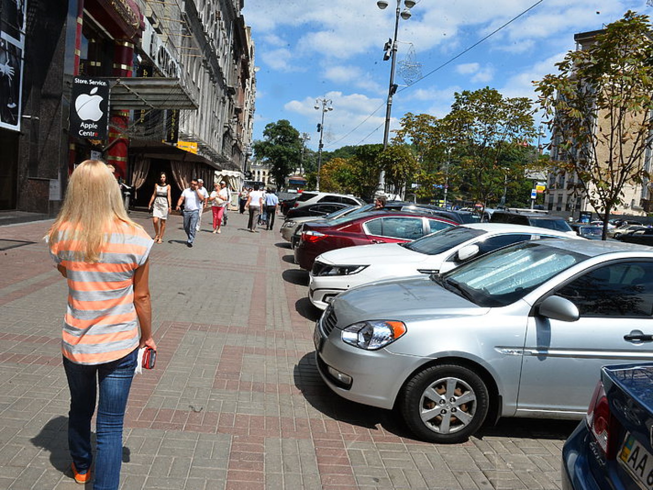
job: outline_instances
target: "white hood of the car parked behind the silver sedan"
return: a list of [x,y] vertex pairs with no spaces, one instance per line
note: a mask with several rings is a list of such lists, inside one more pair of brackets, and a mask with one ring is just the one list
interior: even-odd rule
[[318,260],[330,265],[375,265],[419,263],[427,258],[428,255],[413,252],[400,244],[382,243],[330,250],[320,255]]

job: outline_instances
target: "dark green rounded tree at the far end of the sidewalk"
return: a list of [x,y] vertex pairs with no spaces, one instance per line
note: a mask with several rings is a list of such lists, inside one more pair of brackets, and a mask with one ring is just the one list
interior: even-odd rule
[[299,167],[302,140],[289,121],[281,119],[269,123],[263,131],[264,140],[254,142],[254,155],[263,163],[270,165],[270,175],[283,187],[285,179]]

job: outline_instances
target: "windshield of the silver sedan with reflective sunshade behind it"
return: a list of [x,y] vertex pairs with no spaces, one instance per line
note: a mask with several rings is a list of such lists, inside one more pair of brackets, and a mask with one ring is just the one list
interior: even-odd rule
[[547,244],[522,242],[483,255],[442,276],[435,274],[434,279],[479,306],[506,306],[586,258]]

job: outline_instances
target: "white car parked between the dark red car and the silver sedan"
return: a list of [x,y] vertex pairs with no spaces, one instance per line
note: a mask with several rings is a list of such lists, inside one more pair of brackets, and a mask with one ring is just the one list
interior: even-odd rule
[[537,240],[585,240],[564,231],[527,225],[470,223],[447,228],[414,242],[340,248],[315,259],[308,298],[324,310],[350,287],[385,279],[406,278],[447,270],[503,246]]

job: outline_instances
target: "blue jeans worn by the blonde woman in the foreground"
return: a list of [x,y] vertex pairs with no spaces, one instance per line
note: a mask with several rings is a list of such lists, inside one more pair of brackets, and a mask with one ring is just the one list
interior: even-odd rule
[[68,412],[68,447],[78,472],[91,467],[91,417],[97,403],[95,482],[93,490],[116,490],[122,463],[122,433],[129,388],[134,378],[138,349],[118,361],[87,366],[63,358],[71,391]]

